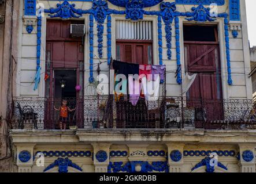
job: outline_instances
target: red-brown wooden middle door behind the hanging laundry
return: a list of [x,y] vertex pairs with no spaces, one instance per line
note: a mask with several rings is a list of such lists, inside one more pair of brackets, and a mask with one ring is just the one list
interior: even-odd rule
[[[153,64],[152,45],[152,41],[146,40],[117,40],[116,59],[127,63]],[[124,99],[116,105],[118,128],[153,128],[155,126],[155,116],[147,112],[144,98],[140,98],[136,106]]]

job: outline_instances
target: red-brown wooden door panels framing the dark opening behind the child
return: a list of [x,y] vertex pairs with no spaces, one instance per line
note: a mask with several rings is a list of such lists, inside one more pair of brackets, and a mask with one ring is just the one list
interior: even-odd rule
[[[46,72],[49,79],[46,81],[46,108],[44,128],[55,128],[56,120],[53,106],[55,101],[60,101],[60,97],[55,96],[54,79],[55,71],[75,70],[76,84],[83,89],[83,60],[84,51],[81,39],[70,37],[70,24],[81,24],[80,21],[47,21],[46,34]],[[82,82],[81,82],[82,81]],[[81,91],[83,92],[83,91]],[[73,99],[73,106],[76,107],[75,124],[79,128],[83,127],[83,93],[77,92]],[[58,98],[58,99],[57,99]],[[62,97],[61,97],[62,98]],[[75,101],[75,102],[74,102]],[[60,104],[60,102],[59,102]],[[75,105],[74,105],[75,104]]]

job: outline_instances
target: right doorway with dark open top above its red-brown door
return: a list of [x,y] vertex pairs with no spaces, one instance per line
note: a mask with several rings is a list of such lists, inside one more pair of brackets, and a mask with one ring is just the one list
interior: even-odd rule
[[[186,24],[183,25],[183,37],[185,72],[190,75],[197,74],[186,94],[187,105],[194,108],[195,122],[198,121],[199,124],[202,121],[222,120],[218,27],[217,25]],[[209,128],[213,128],[210,126]]]

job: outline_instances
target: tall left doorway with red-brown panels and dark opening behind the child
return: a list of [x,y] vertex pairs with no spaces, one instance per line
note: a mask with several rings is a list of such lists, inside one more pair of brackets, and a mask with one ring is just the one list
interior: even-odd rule
[[46,108],[44,128],[58,129],[61,101],[65,99],[69,111],[67,128],[83,128],[84,40],[71,34],[72,24],[80,20],[47,20],[46,27]]

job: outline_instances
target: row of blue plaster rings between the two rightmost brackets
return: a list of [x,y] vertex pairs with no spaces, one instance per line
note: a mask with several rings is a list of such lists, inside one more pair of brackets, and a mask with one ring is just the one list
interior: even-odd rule
[[215,152],[218,156],[236,156],[236,152],[231,150],[220,150],[220,151],[210,151],[210,150],[202,150],[202,151],[199,151],[199,150],[191,150],[191,151],[188,151],[188,150],[185,150],[183,151],[183,155],[184,156],[210,156],[211,153]]

